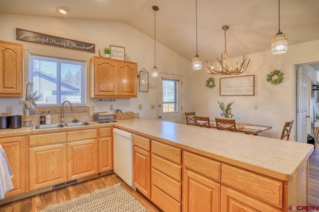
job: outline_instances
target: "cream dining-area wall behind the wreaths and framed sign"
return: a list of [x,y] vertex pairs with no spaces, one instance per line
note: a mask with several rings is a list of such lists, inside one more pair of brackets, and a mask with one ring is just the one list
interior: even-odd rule
[[[219,79],[230,76],[213,76],[206,73],[205,69],[198,71],[196,77],[196,102],[193,110],[197,115],[207,115],[211,119],[220,116],[217,101],[235,103],[232,113],[236,122],[269,125],[273,128],[261,135],[279,138],[286,121],[294,119],[293,94],[295,93],[293,82],[293,64],[302,64],[310,61],[319,61],[319,40],[288,47],[288,52],[273,55],[271,51],[258,52],[245,55],[250,59],[246,71],[240,76],[255,75],[255,96],[219,96]],[[228,52],[231,56],[231,52]],[[230,59],[230,65],[235,67],[236,61],[242,61],[242,57]],[[214,64],[214,63],[213,63]],[[274,69],[281,70],[284,74],[283,82],[279,85],[271,85],[266,82],[266,76]],[[206,80],[213,77],[216,87],[205,87]],[[258,109],[254,109],[258,105]]]

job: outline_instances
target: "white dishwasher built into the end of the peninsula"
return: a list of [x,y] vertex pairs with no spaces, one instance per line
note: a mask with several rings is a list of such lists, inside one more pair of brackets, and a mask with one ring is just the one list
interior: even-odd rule
[[133,187],[133,133],[113,129],[114,172]]

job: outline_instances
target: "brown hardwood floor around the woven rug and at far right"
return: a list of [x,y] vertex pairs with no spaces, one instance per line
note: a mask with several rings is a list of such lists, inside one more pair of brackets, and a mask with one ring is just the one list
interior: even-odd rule
[[[0,212],[35,212],[36,210],[44,210],[45,207],[52,203],[70,200],[83,193],[91,193],[96,189],[102,189],[105,188],[105,186],[111,186],[117,183],[121,183],[123,188],[137,199],[149,212],[160,212],[156,206],[144,198],[140,193],[135,192],[128,187],[116,174],[15,201],[0,206]],[[313,152],[312,157],[309,158],[308,205],[319,206],[319,141],[316,141],[316,150]]]

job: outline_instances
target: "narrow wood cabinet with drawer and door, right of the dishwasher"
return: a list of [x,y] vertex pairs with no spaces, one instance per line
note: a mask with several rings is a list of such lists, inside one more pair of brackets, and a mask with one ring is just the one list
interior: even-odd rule
[[134,134],[133,145],[133,185],[151,198],[150,139]]

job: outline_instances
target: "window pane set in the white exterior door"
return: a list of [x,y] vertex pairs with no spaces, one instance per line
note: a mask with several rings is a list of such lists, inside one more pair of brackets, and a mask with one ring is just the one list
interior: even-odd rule
[[177,81],[163,79],[163,112],[177,111]]

